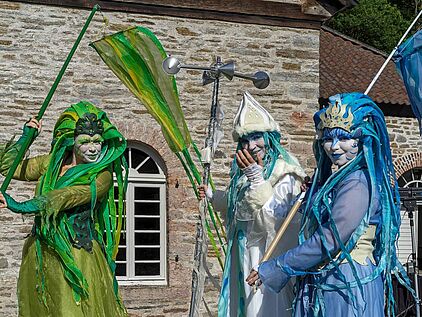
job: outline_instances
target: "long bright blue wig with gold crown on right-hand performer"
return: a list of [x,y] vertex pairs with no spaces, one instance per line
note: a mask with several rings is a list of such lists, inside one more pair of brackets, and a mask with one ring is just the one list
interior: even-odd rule
[[[362,285],[382,276],[386,291],[387,313],[391,315],[394,314],[392,273],[409,290],[411,289],[409,286],[410,281],[396,255],[395,242],[398,238],[400,227],[400,197],[384,115],[368,96],[361,93],[339,94],[330,97],[329,101],[329,107],[321,109],[314,115],[315,128],[319,136],[314,143],[317,169],[309,192],[309,197],[314,197],[314,199],[307,200],[299,242],[303,243],[305,241],[305,232],[310,234],[319,233],[324,251],[329,256],[330,261],[321,270],[306,273],[320,274],[321,272],[335,269],[341,280],[340,284],[318,284],[317,281],[315,287],[321,290],[345,289],[350,294],[355,307],[356,298],[352,295],[351,288],[358,287],[362,291]],[[341,128],[351,138],[358,139],[359,153],[354,160],[333,174],[331,170],[332,163],[322,147],[321,136],[324,133],[324,129],[334,128]],[[369,224],[370,210],[372,210],[374,199],[370,199],[368,211],[360,225],[352,233],[350,239],[346,243],[342,243],[336,224],[331,217],[332,202],[329,197],[332,195],[335,186],[344,180],[346,176],[363,168],[367,169],[369,174],[370,197],[379,196],[382,211],[381,222],[376,232],[374,245],[374,257],[377,266],[371,275],[359,278],[350,252]],[[323,214],[321,211],[324,211]],[[340,246],[340,253],[337,257],[330,254],[326,239],[319,229],[322,225],[323,217],[328,217],[332,232]],[[339,269],[339,265],[344,261],[347,261],[352,268],[355,277],[352,282],[346,282]],[[299,275],[299,272],[292,273]],[[413,293],[412,290],[411,292]],[[316,304],[324,311],[322,298],[317,298]]]

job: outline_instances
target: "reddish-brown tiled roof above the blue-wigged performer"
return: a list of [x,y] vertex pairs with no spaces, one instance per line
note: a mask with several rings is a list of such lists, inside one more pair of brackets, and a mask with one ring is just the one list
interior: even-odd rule
[[[320,97],[364,92],[386,59],[383,52],[324,26],[320,37]],[[368,95],[378,104],[410,105],[392,61]]]

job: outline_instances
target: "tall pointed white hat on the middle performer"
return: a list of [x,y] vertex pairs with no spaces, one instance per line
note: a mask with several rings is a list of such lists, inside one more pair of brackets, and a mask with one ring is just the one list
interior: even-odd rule
[[233,121],[233,140],[238,141],[244,135],[252,132],[280,132],[278,123],[256,101],[249,92],[243,94],[239,109]]

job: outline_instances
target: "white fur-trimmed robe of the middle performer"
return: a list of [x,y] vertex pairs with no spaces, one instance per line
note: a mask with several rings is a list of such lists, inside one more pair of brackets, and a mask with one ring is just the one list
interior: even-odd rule
[[[245,176],[238,181],[239,195],[231,228],[228,255],[218,304],[220,317],[273,317],[291,314],[294,281],[276,294],[261,286],[254,291],[245,279],[256,268],[300,192],[303,170],[279,159],[267,181],[251,187]],[[242,190],[243,189],[243,190]],[[214,201],[222,201],[214,196]],[[216,205],[216,204],[215,204]],[[218,206],[215,206],[218,209]],[[300,217],[289,225],[273,257],[297,245]]]

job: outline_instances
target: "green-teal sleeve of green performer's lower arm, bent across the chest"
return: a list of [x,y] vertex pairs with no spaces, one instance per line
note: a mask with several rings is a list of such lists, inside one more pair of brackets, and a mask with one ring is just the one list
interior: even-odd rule
[[[112,176],[107,170],[98,174],[95,184],[97,187],[97,200],[104,197],[112,186]],[[54,189],[44,195],[34,197],[25,202],[16,202],[8,194],[3,193],[7,208],[15,213],[40,213],[58,214],[61,211],[91,202],[90,185],[76,185],[61,189]]]

